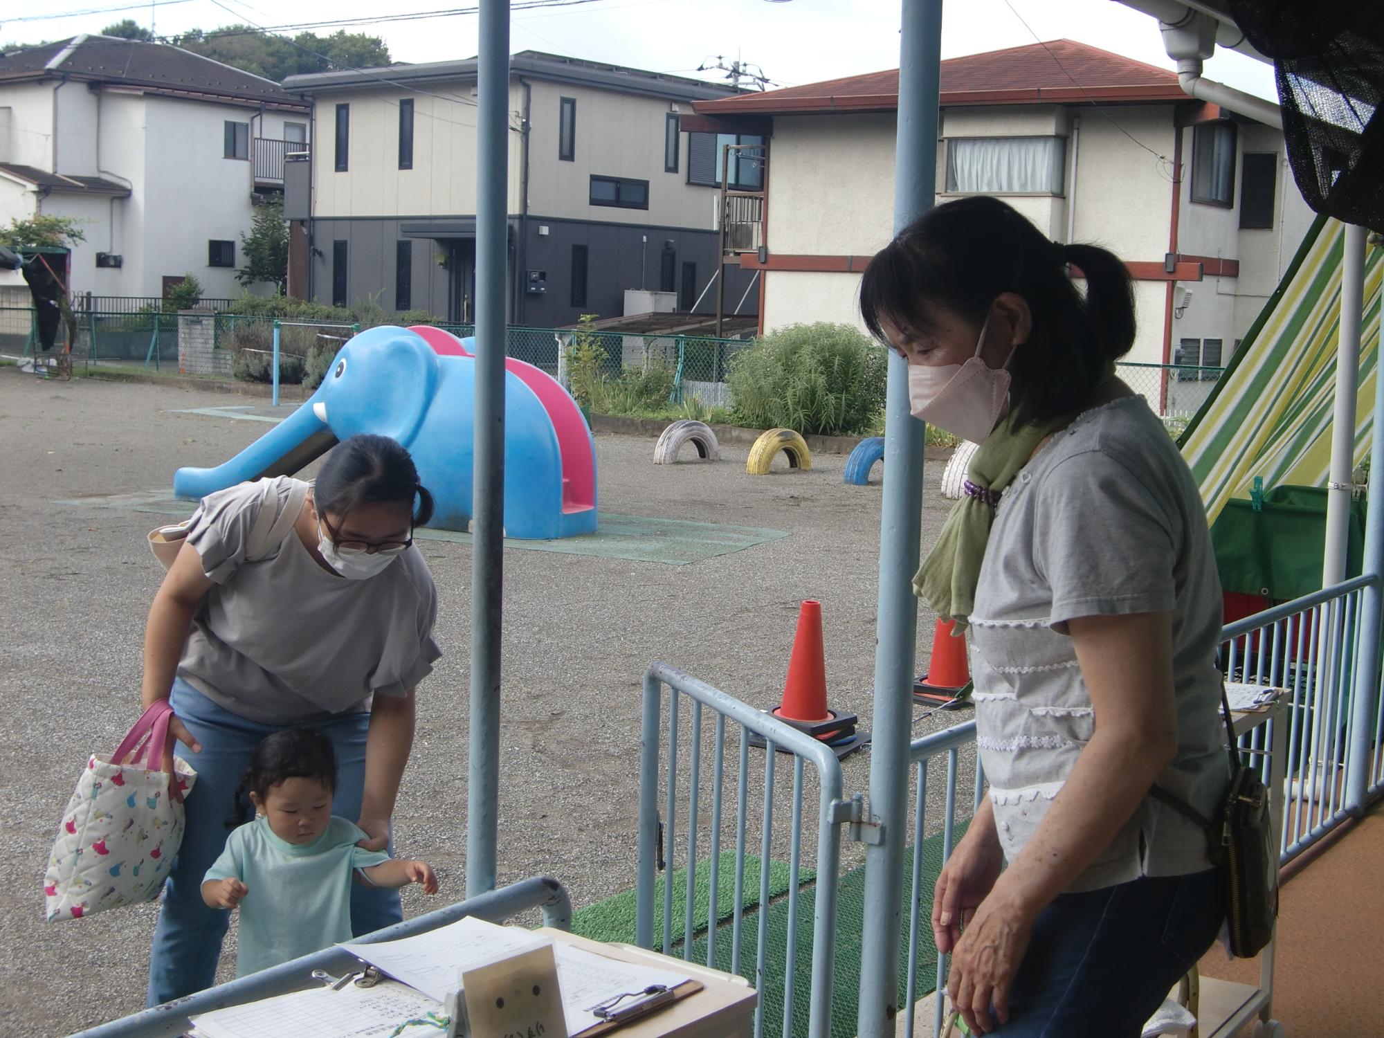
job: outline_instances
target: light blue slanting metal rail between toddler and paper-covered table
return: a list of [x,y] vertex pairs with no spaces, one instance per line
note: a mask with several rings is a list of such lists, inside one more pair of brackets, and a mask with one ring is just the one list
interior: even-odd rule
[[[367,937],[357,937],[363,944],[378,944],[379,941],[397,941],[403,937],[436,930],[458,919],[472,916],[491,923],[502,923],[525,912],[543,912],[543,925],[559,930],[572,929],[572,901],[566,887],[558,880],[547,876],[536,876],[508,887],[498,887],[479,897],[458,901],[436,912],[406,919],[401,923],[376,930]],[[210,1013],[213,1009],[257,1002],[263,998],[286,995],[291,991],[302,991],[316,985],[313,970],[322,970],[332,976],[352,973],[360,967],[360,959],[353,956],[340,945],[324,948],[320,952],[304,955],[300,959],[285,962],[273,969],[252,973],[248,977],[233,980],[219,987],[199,991],[195,995],[180,998],[174,1002],[165,1002],[143,1013],[134,1013],[122,1020],[112,1020],[108,1024],[91,1027],[80,1031],[72,1038],[177,1038],[191,1030],[188,1020],[199,1013]]]

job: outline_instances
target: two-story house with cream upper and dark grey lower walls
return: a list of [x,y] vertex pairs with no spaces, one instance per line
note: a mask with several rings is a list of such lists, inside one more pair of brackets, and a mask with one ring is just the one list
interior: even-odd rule
[[[314,101],[318,147],[288,163],[289,292],[473,318],[476,61],[291,76]],[[713,134],[678,125],[731,87],[525,51],[509,68],[509,320],[619,317],[624,292],[667,309],[716,302]],[[743,299],[753,271],[728,268]],[[644,303],[641,303],[642,306]]]

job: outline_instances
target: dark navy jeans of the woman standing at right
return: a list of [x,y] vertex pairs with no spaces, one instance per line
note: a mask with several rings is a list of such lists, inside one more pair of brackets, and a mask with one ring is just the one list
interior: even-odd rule
[[1063,894],[1038,916],[1001,1038],[1138,1038],[1225,920],[1214,869]]

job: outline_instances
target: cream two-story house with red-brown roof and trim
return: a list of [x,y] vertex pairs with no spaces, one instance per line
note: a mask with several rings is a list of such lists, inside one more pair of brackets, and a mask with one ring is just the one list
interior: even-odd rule
[[[685,129],[768,140],[768,217],[743,235],[765,249],[732,257],[764,274],[763,328],[858,322],[861,271],[893,233],[898,71],[693,109]],[[1081,43],[941,62],[940,115],[938,203],[998,195],[1128,263],[1131,361],[1228,363],[1312,221],[1279,130]]]

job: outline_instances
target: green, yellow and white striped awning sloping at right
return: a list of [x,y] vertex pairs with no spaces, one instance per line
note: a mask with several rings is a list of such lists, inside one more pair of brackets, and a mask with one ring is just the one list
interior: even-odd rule
[[[1215,390],[1182,435],[1207,519],[1248,498],[1254,479],[1324,487],[1331,461],[1344,224],[1318,217]],[[1370,448],[1384,248],[1366,246],[1355,464]]]

